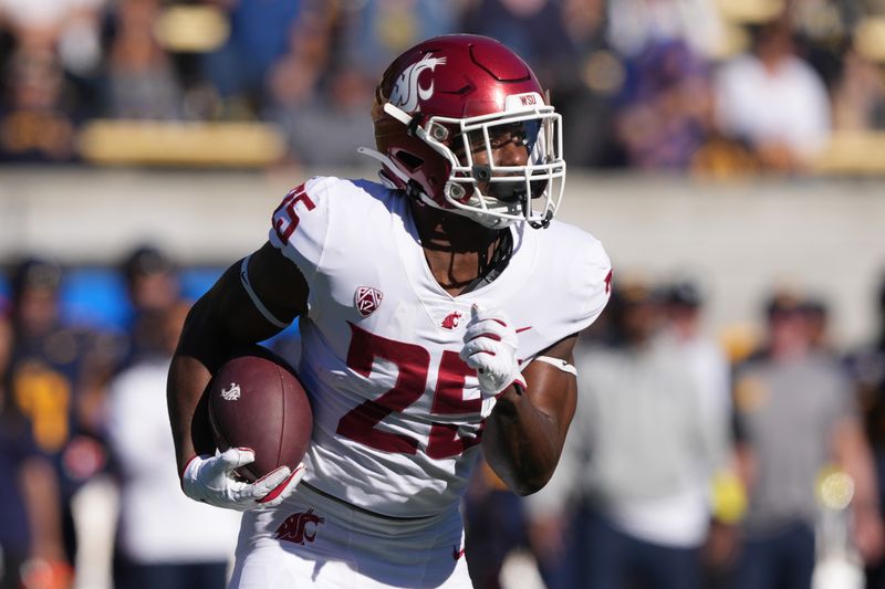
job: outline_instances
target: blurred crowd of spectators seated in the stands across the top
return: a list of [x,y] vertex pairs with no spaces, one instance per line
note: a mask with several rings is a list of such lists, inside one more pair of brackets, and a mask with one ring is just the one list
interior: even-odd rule
[[881,0],[2,0],[0,160],[88,161],[91,123],[136,119],[264,123],[288,162],[353,165],[382,69],[471,32],[533,66],[572,166],[793,173],[885,127],[883,19]]

